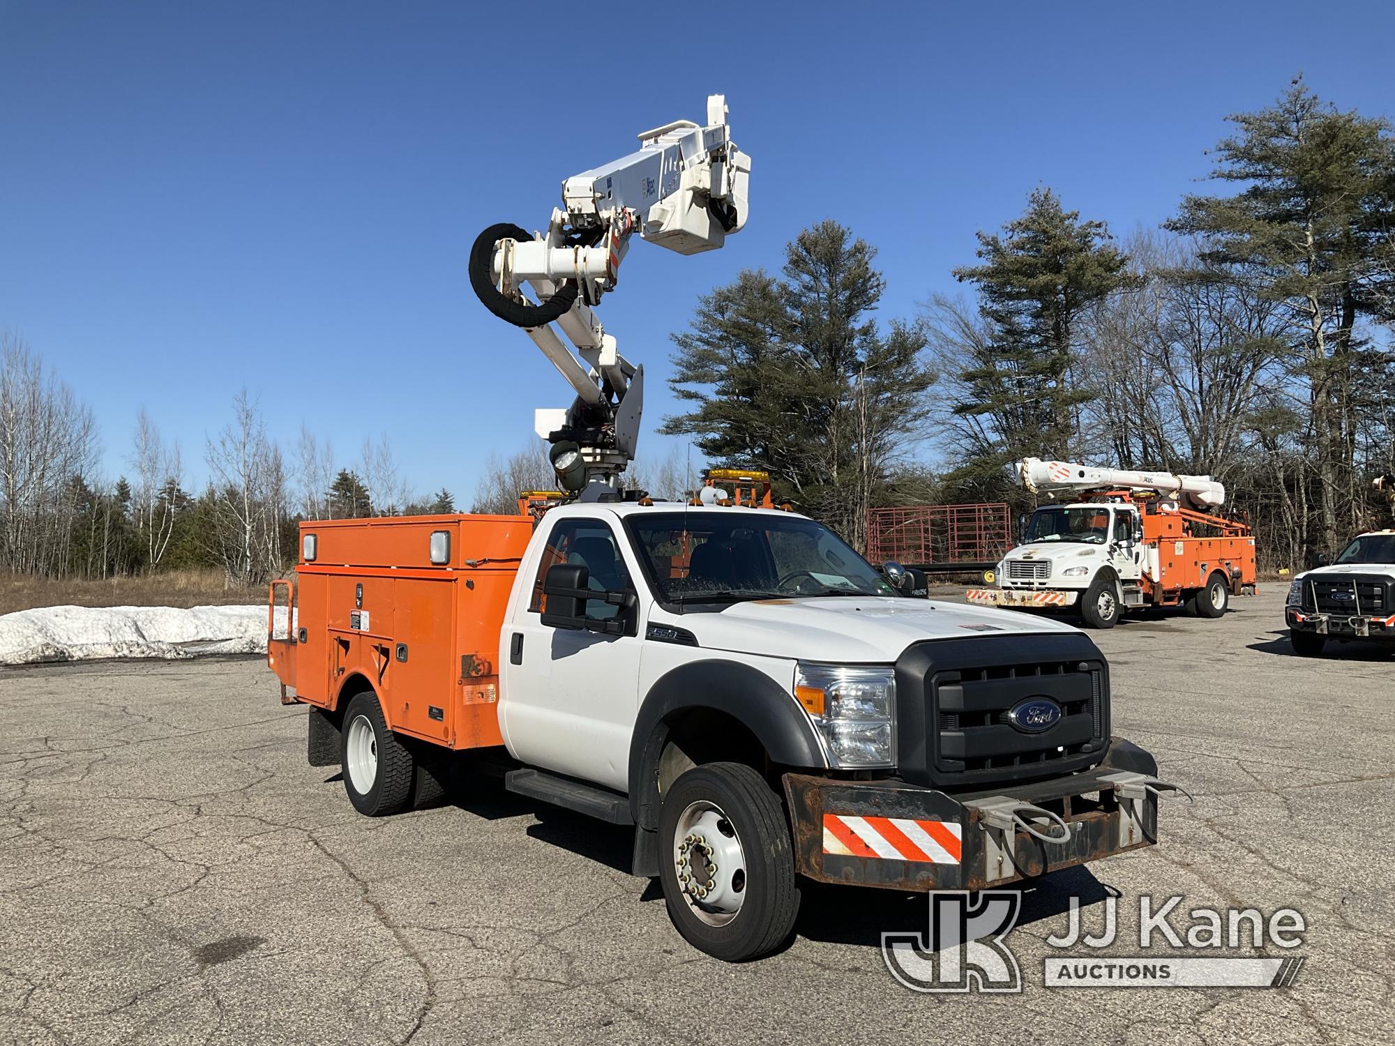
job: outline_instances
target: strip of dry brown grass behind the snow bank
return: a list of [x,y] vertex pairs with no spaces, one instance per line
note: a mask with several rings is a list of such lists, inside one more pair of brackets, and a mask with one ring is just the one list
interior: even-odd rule
[[227,587],[222,570],[169,570],[145,577],[53,580],[0,573],[0,614],[31,607],[211,607],[265,602],[266,590]]

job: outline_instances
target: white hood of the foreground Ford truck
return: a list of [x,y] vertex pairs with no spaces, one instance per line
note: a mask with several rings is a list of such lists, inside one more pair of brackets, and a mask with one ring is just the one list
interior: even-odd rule
[[866,664],[890,664],[925,639],[1077,630],[1017,611],[897,596],[760,600],[671,621],[709,650]]

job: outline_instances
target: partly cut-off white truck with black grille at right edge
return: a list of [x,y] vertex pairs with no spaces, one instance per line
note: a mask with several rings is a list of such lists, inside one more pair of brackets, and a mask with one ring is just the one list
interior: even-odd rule
[[1329,640],[1395,647],[1395,530],[1357,534],[1331,563],[1295,577],[1285,602],[1289,642],[1304,657]]

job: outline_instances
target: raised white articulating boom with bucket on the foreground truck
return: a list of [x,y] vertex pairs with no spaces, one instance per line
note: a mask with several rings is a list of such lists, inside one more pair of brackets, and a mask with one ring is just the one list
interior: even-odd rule
[[470,250],[480,301],[523,328],[576,391],[571,407],[536,411],[534,428],[562,485],[587,501],[618,491],[639,438],[644,368],[617,351],[593,311],[615,289],[629,237],[698,254],[746,223],[751,158],[731,141],[724,95],[707,99],[706,127],[675,120],[639,141],[638,152],[566,179],[545,234],[494,225]]

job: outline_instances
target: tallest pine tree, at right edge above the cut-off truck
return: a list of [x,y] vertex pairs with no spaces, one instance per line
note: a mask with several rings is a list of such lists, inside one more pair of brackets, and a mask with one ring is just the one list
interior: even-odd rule
[[1385,120],[1339,112],[1296,78],[1275,105],[1229,117],[1214,179],[1232,197],[1193,195],[1168,226],[1200,236],[1209,261],[1257,282],[1289,310],[1292,372],[1309,399],[1318,551],[1360,523],[1356,470],[1363,393],[1389,363],[1357,336],[1360,315],[1395,317],[1395,139]]

